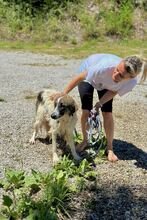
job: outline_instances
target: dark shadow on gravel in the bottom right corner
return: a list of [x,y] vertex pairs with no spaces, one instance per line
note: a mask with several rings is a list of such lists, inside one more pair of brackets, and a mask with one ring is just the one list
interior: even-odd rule
[[[134,196],[133,188],[126,186],[103,185],[97,188],[86,204],[83,220],[141,220],[146,219],[147,200]],[[111,192],[111,193],[110,193]]]

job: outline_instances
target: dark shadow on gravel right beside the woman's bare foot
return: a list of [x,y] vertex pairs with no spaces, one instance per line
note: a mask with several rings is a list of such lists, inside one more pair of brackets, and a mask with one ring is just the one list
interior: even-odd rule
[[147,170],[147,153],[132,143],[114,140],[114,151],[120,160],[136,160],[135,165]]

